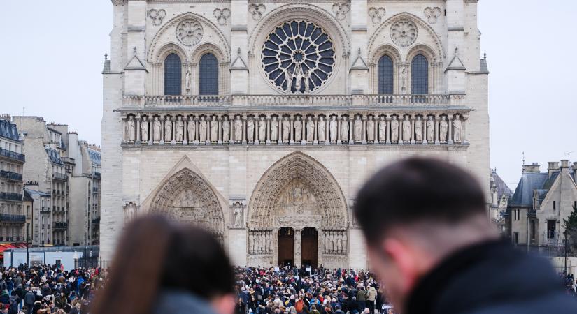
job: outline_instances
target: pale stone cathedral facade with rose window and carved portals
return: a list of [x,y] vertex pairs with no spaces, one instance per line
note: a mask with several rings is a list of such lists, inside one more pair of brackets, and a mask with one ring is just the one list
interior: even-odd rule
[[164,213],[237,265],[366,268],[352,207],[406,156],[468,169],[490,204],[476,0],[113,0],[101,257]]

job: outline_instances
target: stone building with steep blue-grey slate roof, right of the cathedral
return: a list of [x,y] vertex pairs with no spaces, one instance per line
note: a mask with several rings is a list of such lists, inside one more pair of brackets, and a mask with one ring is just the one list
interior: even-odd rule
[[577,207],[576,171],[577,163],[569,165],[569,160],[548,163],[547,172],[537,163],[523,165],[506,216],[513,244],[564,246],[563,220]]

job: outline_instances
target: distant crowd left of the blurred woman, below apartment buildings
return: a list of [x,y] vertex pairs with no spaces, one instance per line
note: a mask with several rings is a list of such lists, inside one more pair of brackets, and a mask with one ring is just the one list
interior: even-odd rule
[[57,265],[0,268],[0,313],[87,313],[104,269],[64,271]]

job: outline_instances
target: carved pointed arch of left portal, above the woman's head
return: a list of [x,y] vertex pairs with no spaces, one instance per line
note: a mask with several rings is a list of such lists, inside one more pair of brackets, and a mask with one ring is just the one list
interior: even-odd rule
[[224,216],[218,197],[206,181],[189,169],[174,174],[152,199],[150,212],[201,225],[222,239]]

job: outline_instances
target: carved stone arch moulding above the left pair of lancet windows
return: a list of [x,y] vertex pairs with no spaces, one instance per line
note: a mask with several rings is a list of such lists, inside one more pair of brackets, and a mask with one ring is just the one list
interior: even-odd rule
[[[218,47],[220,47],[220,50],[222,52],[224,52],[224,54],[227,56],[224,59],[226,59],[226,60],[230,59],[230,55],[229,55],[230,54],[230,47],[229,47],[227,38],[226,38],[225,34],[222,33],[222,31],[220,31],[220,29],[216,26],[216,24],[214,24],[210,20],[206,19],[206,17],[204,17],[202,15],[198,15],[197,13],[187,12],[187,13],[183,13],[181,15],[178,15],[176,17],[173,17],[172,20],[169,20],[169,22],[166,22],[166,24],[164,24],[164,26],[162,26],[159,29],[159,31],[156,33],[155,37],[152,38],[150,47],[149,47],[148,52],[147,52],[149,62],[153,62],[154,61],[153,58],[155,58],[159,55],[159,52],[157,52],[157,47],[166,42],[166,38],[162,38],[164,33],[166,33],[166,31],[176,31],[176,26],[180,22],[183,22],[185,20],[195,20],[195,21],[199,22],[199,24],[201,24],[201,27],[204,28],[204,33],[206,33],[208,31],[208,29],[211,29],[216,34],[216,38],[213,38],[213,40],[216,41],[216,43],[214,45],[217,45]],[[201,42],[199,42],[199,43],[201,43]]]

